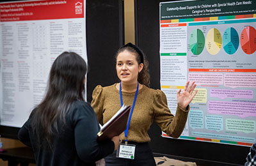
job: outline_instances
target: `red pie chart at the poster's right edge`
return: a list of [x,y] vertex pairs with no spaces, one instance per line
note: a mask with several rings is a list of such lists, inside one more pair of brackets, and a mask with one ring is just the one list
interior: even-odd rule
[[256,30],[252,26],[245,27],[240,38],[241,47],[245,54],[252,54],[256,49]]

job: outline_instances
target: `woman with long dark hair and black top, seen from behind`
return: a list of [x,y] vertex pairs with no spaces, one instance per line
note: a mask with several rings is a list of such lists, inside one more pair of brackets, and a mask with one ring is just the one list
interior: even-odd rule
[[97,142],[99,123],[84,102],[86,71],[74,52],[63,52],[52,64],[45,98],[19,131],[20,141],[33,147],[36,165],[95,165],[119,145],[118,136]]

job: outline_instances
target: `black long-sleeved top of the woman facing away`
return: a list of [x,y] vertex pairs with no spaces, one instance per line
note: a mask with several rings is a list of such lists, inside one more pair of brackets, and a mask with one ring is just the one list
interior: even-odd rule
[[66,125],[61,132],[52,137],[52,149],[36,146],[30,121],[20,128],[19,139],[33,147],[36,165],[95,165],[95,161],[113,153],[113,141],[97,142],[99,123],[92,107],[83,101],[77,101],[70,108]]

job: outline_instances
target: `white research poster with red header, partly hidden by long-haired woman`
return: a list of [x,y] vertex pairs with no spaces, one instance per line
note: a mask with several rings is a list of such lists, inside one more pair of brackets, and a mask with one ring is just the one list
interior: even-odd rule
[[0,3],[0,124],[21,127],[64,51],[87,62],[84,0]]

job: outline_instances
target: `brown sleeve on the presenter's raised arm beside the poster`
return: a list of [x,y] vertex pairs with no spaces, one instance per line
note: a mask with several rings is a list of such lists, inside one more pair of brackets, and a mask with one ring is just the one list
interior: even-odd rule
[[173,138],[178,138],[184,130],[188,118],[189,107],[187,110],[180,109],[177,106],[176,114],[173,114],[168,109],[166,95],[163,91],[157,89],[154,94],[154,120],[159,125],[161,130]]

